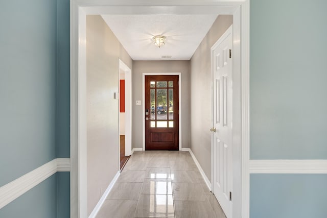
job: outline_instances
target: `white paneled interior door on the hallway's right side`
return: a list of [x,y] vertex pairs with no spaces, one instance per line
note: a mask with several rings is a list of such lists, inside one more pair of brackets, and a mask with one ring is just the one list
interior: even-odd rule
[[212,47],[214,194],[232,217],[232,26]]

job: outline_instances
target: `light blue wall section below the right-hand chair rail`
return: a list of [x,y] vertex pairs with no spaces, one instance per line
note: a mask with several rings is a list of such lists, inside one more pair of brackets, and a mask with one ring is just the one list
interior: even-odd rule
[[325,218],[326,174],[252,174],[251,218]]

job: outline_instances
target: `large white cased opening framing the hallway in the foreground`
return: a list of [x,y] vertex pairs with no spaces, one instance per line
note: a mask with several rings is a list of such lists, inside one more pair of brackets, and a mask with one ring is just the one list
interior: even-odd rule
[[[71,0],[71,217],[87,217],[86,144],[86,15],[87,14],[231,14],[233,70],[241,84],[241,143],[233,150],[239,159],[233,178],[233,214],[249,217],[249,1],[250,0]],[[126,7],[128,6],[128,7]],[[242,36],[242,38],[241,38]],[[234,77],[233,77],[234,78]],[[235,88],[235,86],[233,86]],[[233,127],[237,125],[233,122]],[[235,184],[234,184],[235,183]],[[238,195],[236,190],[238,189]]]

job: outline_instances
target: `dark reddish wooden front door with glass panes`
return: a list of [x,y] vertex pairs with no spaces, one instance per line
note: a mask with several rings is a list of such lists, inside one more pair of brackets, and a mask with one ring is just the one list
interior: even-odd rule
[[178,150],[178,76],[145,76],[145,149]]

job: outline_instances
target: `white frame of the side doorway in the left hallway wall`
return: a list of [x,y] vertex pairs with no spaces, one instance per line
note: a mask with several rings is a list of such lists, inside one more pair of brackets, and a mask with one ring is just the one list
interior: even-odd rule
[[[130,156],[132,154],[132,70],[121,59],[119,59],[118,66],[125,73],[125,156]],[[120,74],[120,71],[118,71],[118,74]],[[120,80],[120,77],[118,78]],[[120,110],[118,113],[120,113]],[[119,129],[120,124],[121,120],[119,118]],[[120,144],[120,140],[118,141]]]

